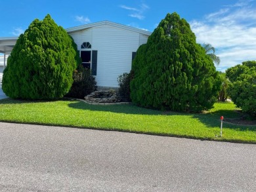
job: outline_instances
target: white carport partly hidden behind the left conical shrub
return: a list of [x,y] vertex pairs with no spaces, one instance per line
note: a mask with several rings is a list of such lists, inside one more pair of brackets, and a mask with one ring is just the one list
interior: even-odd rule
[[0,53],[3,53],[3,67],[6,67],[6,56],[12,52],[18,37],[0,37]]

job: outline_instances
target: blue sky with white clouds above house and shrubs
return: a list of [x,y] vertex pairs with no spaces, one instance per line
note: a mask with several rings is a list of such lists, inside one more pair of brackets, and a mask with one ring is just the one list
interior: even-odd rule
[[48,13],[63,28],[109,20],[154,31],[168,12],[177,12],[198,43],[216,48],[219,71],[256,60],[256,0],[0,0],[0,5],[0,37],[18,36]]

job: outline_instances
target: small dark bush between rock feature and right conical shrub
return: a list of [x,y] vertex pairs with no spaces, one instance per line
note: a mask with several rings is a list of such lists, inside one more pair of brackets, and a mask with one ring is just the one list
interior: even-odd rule
[[130,82],[131,82],[131,73],[123,73],[117,78],[119,85],[118,94],[123,102],[131,102],[130,98]]

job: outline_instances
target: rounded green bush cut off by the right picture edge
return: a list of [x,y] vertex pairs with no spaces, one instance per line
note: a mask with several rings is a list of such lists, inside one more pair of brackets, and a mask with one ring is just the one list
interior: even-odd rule
[[234,104],[244,113],[256,117],[256,61],[230,67],[226,70],[226,76],[232,82],[228,94]]

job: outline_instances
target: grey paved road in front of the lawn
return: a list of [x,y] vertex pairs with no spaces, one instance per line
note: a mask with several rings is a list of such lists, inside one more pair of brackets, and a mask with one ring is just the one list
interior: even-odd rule
[[0,123],[0,191],[256,191],[256,145]]

